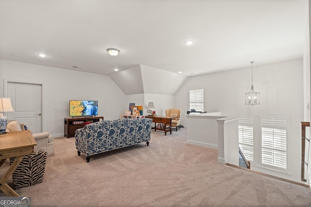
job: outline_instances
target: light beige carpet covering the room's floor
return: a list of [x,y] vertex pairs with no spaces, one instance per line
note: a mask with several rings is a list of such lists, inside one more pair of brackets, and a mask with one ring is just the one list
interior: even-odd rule
[[[308,188],[217,163],[217,150],[190,145],[186,128],[97,156],[56,138],[44,181],[17,190],[33,207],[310,207]],[[0,196],[4,196],[1,192]]]

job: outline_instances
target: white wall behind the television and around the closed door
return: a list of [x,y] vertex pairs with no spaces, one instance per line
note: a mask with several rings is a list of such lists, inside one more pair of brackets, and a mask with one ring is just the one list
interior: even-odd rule
[[107,120],[124,113],[126,96],[109,76],[0,60],[1,97],[3,80],[42,83],[42,130],[55,137],[64,136],[69,100],[98,100],[99,115]]

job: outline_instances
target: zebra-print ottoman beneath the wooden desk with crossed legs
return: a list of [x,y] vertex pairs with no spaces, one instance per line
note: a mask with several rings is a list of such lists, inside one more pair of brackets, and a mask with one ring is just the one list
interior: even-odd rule
[[[12,164],[16,158],[11,158]],[[12,174],[15,189],[41,183],[44,178],[47,152],[37,149],[33,154],[26,155]]]

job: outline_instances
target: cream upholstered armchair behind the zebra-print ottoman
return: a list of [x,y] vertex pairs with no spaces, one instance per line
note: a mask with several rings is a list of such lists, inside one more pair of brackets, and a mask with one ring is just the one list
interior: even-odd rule
[[[24,125],[15,120],[9,121],[5,129],[6,132],[21,130],[25,130]],[[46,148],[48,156],[54,155],[54,137],[50,136],[49,132],[36,133],[33,136],[37,143],[36,147]]]

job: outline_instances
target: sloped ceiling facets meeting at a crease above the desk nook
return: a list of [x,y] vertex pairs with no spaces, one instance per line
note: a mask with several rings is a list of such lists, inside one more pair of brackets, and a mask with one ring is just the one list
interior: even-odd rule
[[174,95],[189,77],[140,64],[112,74],[110,78],[125,95]]

